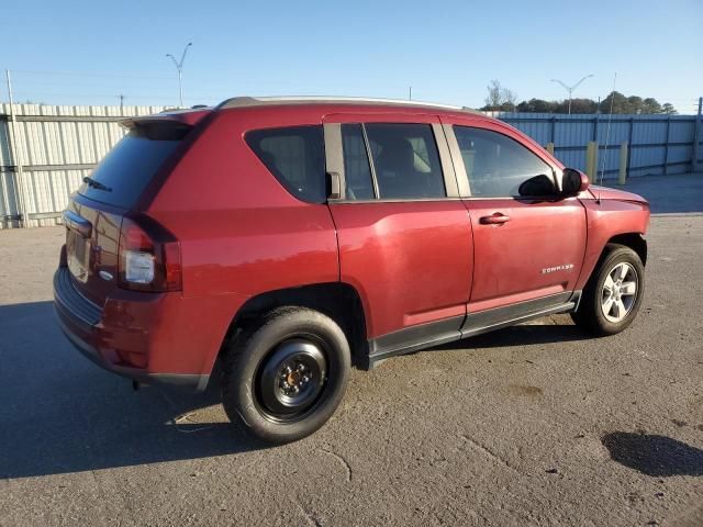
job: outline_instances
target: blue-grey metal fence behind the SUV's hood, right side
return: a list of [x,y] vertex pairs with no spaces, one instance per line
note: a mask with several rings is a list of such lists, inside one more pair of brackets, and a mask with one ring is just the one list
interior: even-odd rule
[[[605,179],[617,176],[620,148],[625,141],[629,148],[628,177],[692,170],[695,115],[613,115],[609,133],[609,116],[603,114],[488,113],[542,145],[554,143],[555,156],[567,167],[585,170],[587,144],[598,142],[598,170],[600,175],[604,168]],[[702,138],[699,134],[699,144]]]

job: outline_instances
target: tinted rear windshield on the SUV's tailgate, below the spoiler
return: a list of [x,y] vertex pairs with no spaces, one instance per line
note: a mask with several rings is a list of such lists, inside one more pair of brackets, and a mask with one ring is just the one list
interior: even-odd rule
[[110,205],[132,208],[186,131],[131,130],[90,173],[97,184],[83,182],[78,193]]

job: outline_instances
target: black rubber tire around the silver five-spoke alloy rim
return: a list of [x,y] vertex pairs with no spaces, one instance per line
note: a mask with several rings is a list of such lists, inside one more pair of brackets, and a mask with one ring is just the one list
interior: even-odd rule
[[[625,316],[614,322],[609,319],[602,307],[602,301],[606,298],[604,295],[607,294],[603,289],[609,274],[621,264],[627,264],[634,271],[632,273],[628,271],[629,278],[627,280],[636,281],[636,291]],[[633,323],[639,311],[644,293],[645,266],[643,266],[637,253],[624,245],[609,244],[583,289],[579,310],[571,313],[571,318],[578,326],[593,335],[615,335]]]

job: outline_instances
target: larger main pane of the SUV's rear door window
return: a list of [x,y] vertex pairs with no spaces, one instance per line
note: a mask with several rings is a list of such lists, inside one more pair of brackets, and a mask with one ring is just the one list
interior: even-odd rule
[[447,195],[437,144],[428,124],[366,124],[379,199]]

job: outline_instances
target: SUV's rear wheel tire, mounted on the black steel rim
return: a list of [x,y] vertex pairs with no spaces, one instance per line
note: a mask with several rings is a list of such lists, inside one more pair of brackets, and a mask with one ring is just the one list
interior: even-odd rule
[[[294,441],[322,427],[337,408],[350,362],[349,344],[332,318],[306,307],[279,307],[231,343],[223,360],[222,404],[230,421],[242,423],[255,437]],[[278,369],[286,365],[289,373]],[[291,403],[294,397],[302,397],[300,405]]]

